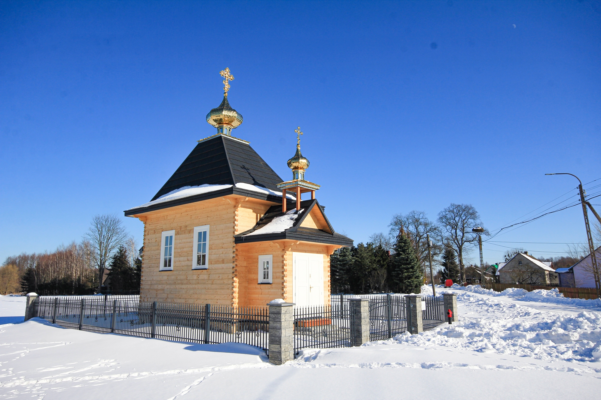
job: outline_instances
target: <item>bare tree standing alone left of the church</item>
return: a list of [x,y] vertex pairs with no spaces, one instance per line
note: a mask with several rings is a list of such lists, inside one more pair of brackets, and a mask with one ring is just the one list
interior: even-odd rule
[[109,259],[128,237],[121,220],[114,214],[94,216],[85,238],[90,242],[94,264],[98,270],[98,292],[102,291],[102,279]]

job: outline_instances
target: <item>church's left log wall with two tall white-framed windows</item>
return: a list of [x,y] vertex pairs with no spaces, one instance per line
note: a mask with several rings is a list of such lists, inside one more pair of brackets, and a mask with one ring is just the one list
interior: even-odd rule
[[[231,305],[236,199],[210,199],[145,214],[140,297],[144,302]],[[194,227],[210,225],[209,269],[192,270]],[[159,271],[163,231],[175,230],[173,271]]]

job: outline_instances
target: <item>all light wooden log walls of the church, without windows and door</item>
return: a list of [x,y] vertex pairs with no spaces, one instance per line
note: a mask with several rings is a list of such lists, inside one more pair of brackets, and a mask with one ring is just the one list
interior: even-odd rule
[[[231,306],[263,306],[274,298],[292,302],[292,253],[301,252],[323,255],[328,304],[329,255],[341,246],[291,240],[234,243],[234,235],[251,229],[271,205],[229,195],[136,215],[144,222],[141,300]],[[322,225],[314,218],[308,223]],[[192,270],[194,227],[201,225],[210,226],[209,268]],[[161,233],[171,230],[175,230],[174,267],[159,271]],[[273,255],[271,285],[258,285],[258,256],[264,254]]]

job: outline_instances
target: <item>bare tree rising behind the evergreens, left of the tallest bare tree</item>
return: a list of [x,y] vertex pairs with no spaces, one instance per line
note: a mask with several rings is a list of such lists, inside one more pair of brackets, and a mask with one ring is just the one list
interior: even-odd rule
[[[396,237],[401,228],[409,235],[409,238],[415,249],[415,256],[418,258],[419,265],[427,265],[428,259],[428,243],[426,235],[430,235],[432,240],[432,258],[435,259],[442,253],[441,245],[441,230],[435,223],[426,217],[424,211],[410,211],[407,214],[394,214],[390,226],[391,235]],[[426,274],[427,275],[427,274]]]

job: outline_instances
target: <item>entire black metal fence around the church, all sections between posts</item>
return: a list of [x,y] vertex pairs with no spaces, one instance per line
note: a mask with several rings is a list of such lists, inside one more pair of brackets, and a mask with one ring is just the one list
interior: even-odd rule
[[[307,347],[350,347],[355,333],[351,298],[368,298],[370,340],[411,330],[404,295],[332,295],[331,305],[294,306],[294,353]],[[423,329],[444,324],[442,296],[422,297]],[[140,302],[138,295],[41,296],[38,317],[66,328],[100,333],[218,344],[238,342],[267,350],[269,308]]]

